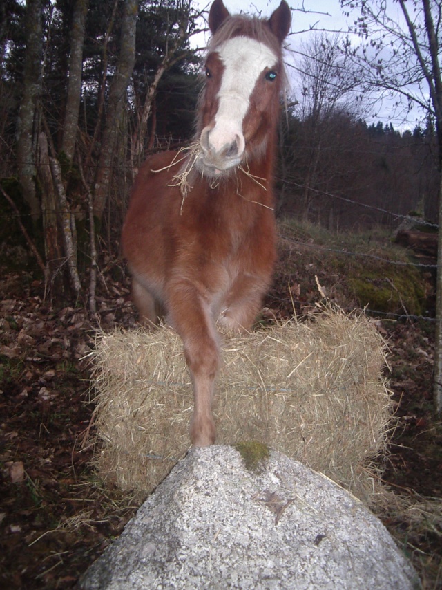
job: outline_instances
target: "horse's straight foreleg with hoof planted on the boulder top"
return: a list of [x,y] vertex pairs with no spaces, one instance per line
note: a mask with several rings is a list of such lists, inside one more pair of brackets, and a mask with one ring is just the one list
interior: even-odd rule
[[193,382],[191,442],[195,447],[206,447],[215,442],[216,436],[212,414],[215,374],[220,365],[216,329],[209,306],[191,286],[175,288],[168,304],[171,323],[184,343]]

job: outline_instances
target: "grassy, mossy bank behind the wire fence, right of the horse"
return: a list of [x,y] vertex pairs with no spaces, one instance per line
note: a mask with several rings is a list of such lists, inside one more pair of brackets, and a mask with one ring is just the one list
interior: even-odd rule
[[425,314],[432,288],[409,252],[392,242],[388,230],[329,232],[294,219],[280,221],[278,227],[280,259],[285,265],[277,268],[278,282],[287,275],[289,281],[302,282],[304,291],[316,291],[318,276],[327,297],[344,308]]

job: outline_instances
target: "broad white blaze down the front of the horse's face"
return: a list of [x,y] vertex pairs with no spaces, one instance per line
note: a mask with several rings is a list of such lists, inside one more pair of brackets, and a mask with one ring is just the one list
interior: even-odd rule
[[[233,37],[217,48],[224,66],[221,87],[218,92],[218,112],[213,129],[206,128],[205,147],[207,160],[226,152],[224,169],[237,165],[244,152],[242,122],[249,110],[250,96],[258,77],[265,68],[273,68],[278,57],[265,44],[250,37]],[[236,154],[229,156],[231,145],[238,147]],[[216,159],[216,158],[215,158]]]

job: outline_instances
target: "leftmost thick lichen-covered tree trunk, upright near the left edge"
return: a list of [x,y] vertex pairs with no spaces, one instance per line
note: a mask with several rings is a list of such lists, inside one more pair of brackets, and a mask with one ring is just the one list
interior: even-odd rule
[[17,167],[23,197],[30,206],[34,221],[41,216],[40,203],[35,190],[35,149],[32,139],[35,107],[41,91],[42,55],[41,0],[27,0],[26,53],[17,131]]

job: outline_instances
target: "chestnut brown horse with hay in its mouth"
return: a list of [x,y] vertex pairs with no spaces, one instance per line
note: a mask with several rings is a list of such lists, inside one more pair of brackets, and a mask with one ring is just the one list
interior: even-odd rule
[[222,0],[213,2],[195,144],[148,158],[124,223],[140,321],[165,315],[184,343],[196,446],[215,441],[216,324],[249,330],[271,282],[273,161],[290,24],[285,0],[269,19],[231,16]]

